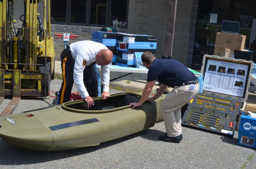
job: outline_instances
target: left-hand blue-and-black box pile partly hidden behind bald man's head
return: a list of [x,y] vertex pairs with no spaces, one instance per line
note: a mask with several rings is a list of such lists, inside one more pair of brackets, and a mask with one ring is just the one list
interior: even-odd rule
[[92,41],[102,43],[108,49],[113,52],[112,65],[115,65],[116,61],[116,47],[117,47],[117,33],[113,32],[102,32],[102,31],[93,31],[92,32]]

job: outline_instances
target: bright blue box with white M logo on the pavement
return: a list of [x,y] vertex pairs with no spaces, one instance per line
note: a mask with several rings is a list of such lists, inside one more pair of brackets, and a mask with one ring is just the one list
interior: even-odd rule
[[256,149],[256,116],[241,115],[238,144]]

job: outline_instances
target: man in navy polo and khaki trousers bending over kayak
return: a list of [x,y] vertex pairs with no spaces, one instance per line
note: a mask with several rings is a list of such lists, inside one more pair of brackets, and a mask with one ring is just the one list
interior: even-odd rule
[[[133,102],[132,108],[141,106],[144,101],[154,101],[169,87],[173,88],[161,104],[161,113],[165,122],[166,135],[159,140],[165,142],[181,142],[181,107],[199,92],[199,83],[195,75],[182,63],[174,59],[156,59],[151,52],[141,56],[144,66],[148,69],[148,79],[139,102]],[[155,82],[161,86],[153,97],[149,97]]]

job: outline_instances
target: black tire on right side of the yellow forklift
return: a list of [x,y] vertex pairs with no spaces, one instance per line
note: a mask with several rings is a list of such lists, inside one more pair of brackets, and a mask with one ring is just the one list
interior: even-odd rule
[[40,67],[39,69],[40,69],[40,72],[44,73],[44,75],[45,75],[45,80],[42,81],[42,90],[44,90],[44,87],[46,86],[46,92],[45,92],[45,95],[44,95],[44,97],[46,97],[46,96],[49,95],[49,92],[50,92],[50,85],[51,85],[51,63],[50,62],[46,63],[46,70],[44,70],[45,69],[44,66]]

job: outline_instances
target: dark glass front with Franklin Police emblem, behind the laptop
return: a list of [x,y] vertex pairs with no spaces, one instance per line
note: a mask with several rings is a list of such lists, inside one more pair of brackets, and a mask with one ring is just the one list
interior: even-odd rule
[[[240,16],[255,18],[255,0],[199,0],[192,69],[200,70],[203,56],[214,54],[216,33],[221,32],[223,20],[240,22],[240,34],[246,35],[245,49],[251,41],[252,20],[243,24]],[[210,14],[218,14],[216,23],[210,23]]]

